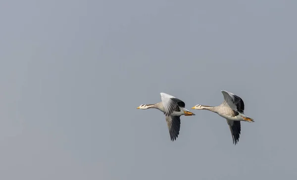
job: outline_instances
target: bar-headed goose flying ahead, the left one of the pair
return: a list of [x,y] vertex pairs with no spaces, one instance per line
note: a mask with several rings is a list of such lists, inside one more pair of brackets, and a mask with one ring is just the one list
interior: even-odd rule
[[182,115],[193,116],[195,114],[185,108],[186,104],[182,100],[163,92],[160,94],[161,102],[156,104],[142,104],[137,109],[155,108],[162,111],[165,114],[170,138],[174,141],[178,137],[181,127],[180,117]]

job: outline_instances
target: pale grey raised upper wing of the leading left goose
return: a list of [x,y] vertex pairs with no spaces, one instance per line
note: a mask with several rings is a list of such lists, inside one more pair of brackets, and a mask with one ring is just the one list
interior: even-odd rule
[[186,104],[185,102],[183,102],[182,100],[161,92],[161,100],[163,103],[163,107],[164,107],[164,114],[166,116],[170,116],[171,113],[173,113],[173,111],[176,109],[177,106],[181,106],[181,107],[185,107]]

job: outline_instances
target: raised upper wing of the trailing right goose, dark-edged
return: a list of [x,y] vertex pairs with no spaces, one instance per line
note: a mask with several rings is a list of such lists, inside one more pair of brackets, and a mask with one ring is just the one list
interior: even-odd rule
[[224,101],[222,105],[227,103],[231,109],[240,113],[244,113],[245,103],[242,98],[226,90],[221,90],[221,92],[223,93],[224,99],[226,101]]

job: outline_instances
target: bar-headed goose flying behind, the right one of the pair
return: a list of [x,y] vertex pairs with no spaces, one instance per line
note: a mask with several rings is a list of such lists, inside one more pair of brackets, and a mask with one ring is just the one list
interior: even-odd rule
[[235,145],[239,141],[239,136],[241,133],[241,121],[254,122],[254,120],[244,114],[245,104],[242,98],[239,96],[228,92],[226,90],[221,90],[224,96],[224,101],[219,106],[204,106],[196,105],[191,109],[205,109],[217,113],[221,117],[227,120],[230,127],[230,131],[233,138],[233,144]]

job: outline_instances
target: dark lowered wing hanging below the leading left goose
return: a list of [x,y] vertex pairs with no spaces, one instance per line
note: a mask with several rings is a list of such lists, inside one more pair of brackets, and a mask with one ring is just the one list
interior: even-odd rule
[[179,135],[181,128],[181,116],[166,116],[166,122],[170,134],[170,139],[172,141],[176,140]]

